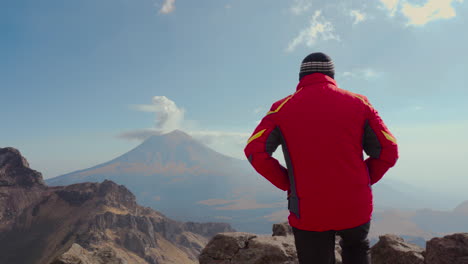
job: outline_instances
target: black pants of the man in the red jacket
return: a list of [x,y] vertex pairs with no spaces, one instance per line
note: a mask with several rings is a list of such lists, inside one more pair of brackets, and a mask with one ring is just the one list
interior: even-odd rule
[[369,233],[370,222],[345,229],[313,232],[293,227],[294,241],[300,264],[335,264],[335,236],[342,240],[343,264],[370,264]]

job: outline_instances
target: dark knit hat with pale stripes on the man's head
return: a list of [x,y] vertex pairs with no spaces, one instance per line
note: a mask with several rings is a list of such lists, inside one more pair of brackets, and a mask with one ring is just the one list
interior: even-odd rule
[[299,72],[299,81],[304,76],[316,72],[335,78],[335,66],[333,61],[328,55],[322,52],[311,53],[302,60],[301,71]]

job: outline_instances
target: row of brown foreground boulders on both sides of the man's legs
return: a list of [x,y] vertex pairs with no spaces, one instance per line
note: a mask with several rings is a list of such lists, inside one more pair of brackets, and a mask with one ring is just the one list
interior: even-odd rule
[[[371,248],[373,264],[468,264],[468,233],[433,238],[426,251],[396,235],[380,236]],[[336,263],[341,248],[335,245]],[[228,232],[216,235],[203,249],[200,264],[298,264],[294,237],[287,223],[274,224],[273,235]]]

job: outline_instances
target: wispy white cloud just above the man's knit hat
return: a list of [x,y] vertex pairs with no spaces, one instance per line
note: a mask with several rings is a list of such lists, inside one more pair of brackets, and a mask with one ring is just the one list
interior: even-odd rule
[[327,21],[320,10],[315,11],[312,16],[309,27],[303,29],[299,35],[294,38],[288,45],[286,51],[292,52],[294,49],[305,44],[307,47],[312,47],[317,40],[340,40],[335,33],[335,28],[330,21]]

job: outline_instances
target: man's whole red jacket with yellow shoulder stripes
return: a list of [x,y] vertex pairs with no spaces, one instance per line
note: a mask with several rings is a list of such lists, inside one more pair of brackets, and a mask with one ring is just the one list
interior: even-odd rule
[[[256,129],[265,130],[263,141],[250,142],[246,154],[262,170],[269,165],[261,159],[269,158],[253,154],[265,148],[271,155],[282,145],[288,186],[277,187],[290,192],[292,226],[311,231],[355,227],[370,220],[371,184],[380,179],[372,181],[363,149],[377,160],[388,156],[390,167],[396,161],[396,142],[379,120],[364,96],[338,88],[329,76],[311,74],[294,94],[272,105]],[[273,174],[265,173],[271,181]]]

